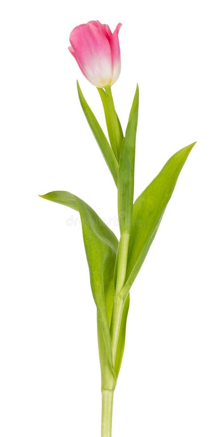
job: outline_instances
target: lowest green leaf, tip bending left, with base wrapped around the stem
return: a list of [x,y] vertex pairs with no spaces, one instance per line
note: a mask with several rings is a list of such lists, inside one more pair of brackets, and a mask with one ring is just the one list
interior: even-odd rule
[[[98,344],[102,375],[102,388],[113,389],[115,388],[116,379],[121,367],[125,342],[126,319],[129,308],[128,296],[124,305],[121,321],[114,375],[114,370],[111,368],[110,337],[109,340],[105,337],[108,335],[108,329],[110,327],[113,310],[115,292],[113,270],[118,248],[117,238],[91,209],[91,207],[74,194],[71,194],[68,191],[52,191],[40,197],[52,202],[69,206],[70,208],[80,212],[85,248],[90,266],[91,288],[94,301],[97,306]],[[98,257],[97,263],[96,257]],[[104,319],[103,322],[102,319]],[[106,335],[103,335],[105,329]]]

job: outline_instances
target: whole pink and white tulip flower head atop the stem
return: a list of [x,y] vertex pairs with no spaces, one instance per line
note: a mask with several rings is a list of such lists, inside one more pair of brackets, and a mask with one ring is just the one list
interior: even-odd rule
[[119,30],[111,32],[107,24],[89,21],[80,24],[70,34],[70,52],[84,76],[95,86],[114,84],[120,75],[121,55]]

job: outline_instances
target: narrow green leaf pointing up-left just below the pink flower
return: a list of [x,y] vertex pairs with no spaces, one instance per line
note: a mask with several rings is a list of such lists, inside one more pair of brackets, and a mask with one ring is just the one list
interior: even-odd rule
[[91,111],[91,108],[89,107],[87,101],[85,100],[82,91],[80,89],[80,86],[77,81],[77,90],[79,95],[79,101],[81,103],[83,112],[87,118],[88,124],[91,128],[91,131],[102,151],[102,154],[106,160],[107,166],[110,169],[110,172],[113,176],[114,182],[117,185],[118,184],[118,162],[114,155],[114,152],[112,151],[106,136],[98,123],[96,117],[94,116],[93,112]]

